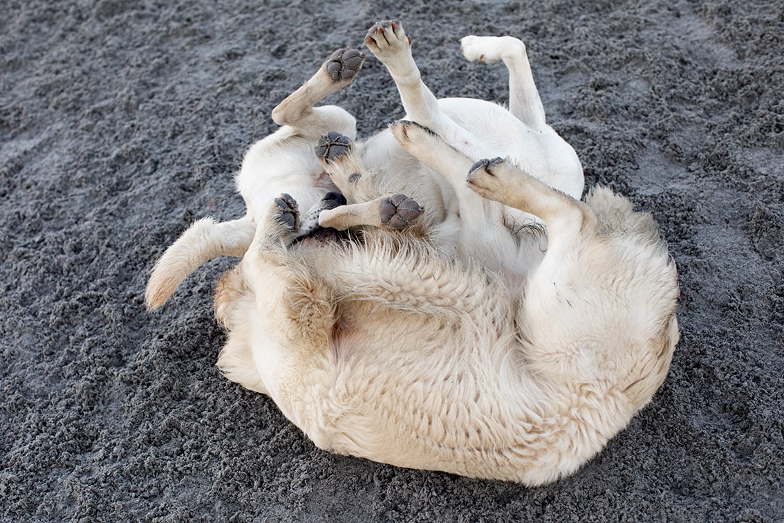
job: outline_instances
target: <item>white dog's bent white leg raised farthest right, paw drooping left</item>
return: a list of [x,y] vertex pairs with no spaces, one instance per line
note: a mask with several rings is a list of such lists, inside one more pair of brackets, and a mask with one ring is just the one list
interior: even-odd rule
[[511,36],[466,36],[460,40],[466,60],[492,64],[503,60],[509,70],[509,111],[532,129],[546,126],[525,44]]

